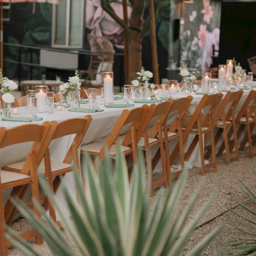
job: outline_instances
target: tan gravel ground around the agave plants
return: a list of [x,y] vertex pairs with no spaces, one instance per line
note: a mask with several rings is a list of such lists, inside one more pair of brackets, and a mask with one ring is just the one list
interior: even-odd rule
[[[189,220],[191,220],[204,203],[207,202],[209,196],[214,191],[218,191],[216,198],[199,223],[199,225],[202,226],[197,228],[194,231],[193,236],[190,238],[185,248],[184,255],[186,254],[186,251],[193,248],[193,246],[201,241],[207,233],[223,221],[226,223],[225,227],[209,244],[209,246],[204,249],[202,255],[212,255],[212,248],[215,245],[221,246],[225,243],[236,241],[233,237],[241,237],[243,235],[238,228],[252,231],[252,227],[246,221],[234,215],[229,209],[236,206],[238,201],[250,204],[247,196],[242,192],[240,187],[241,181],[244,181],[250,188],[256,189],[256,176],[251,170],[251,166],[256,167],[256,157],[254,157],[254,159],[250,159],[248,151],[245,151],[240,153],[239,161],[232,160],[230,165],[226,164],[225,156],[218,158],[217,162],[218,172],[213,173],[212,169],[206,170],[204,177],[201,176],[200,168],[193,168],[189,170],[188,181],[185,185],[181,199],[179,200],[175,216],[172,217],[175,220],[175,217],[178,216],[179,212],[184,209],[184,206],[187,204],[200,182],[204,182],[203,188],[199,194],[195,207],[189,216]],[[154,178],[157,179],[158,175],[159,174],[154,174]],[[156,196],[151,200],[151,209],[154,207]],[[255,208],[255,205],[250,204],[250,206]],[[236,209],[243,212],[243,209],[241,209],[240,206],[237,206]],[[207,223],[204,224],[205,222]],[[18,231],[29,229],[29,226],[24,219],[15,221],[12,226]],[[45,245],[37,246],[35,245],[34,240],[31,240],[30,242],[41,255],[50,255]],[[13,248],[9,249],[9,253],[10,255],[22,255]]]

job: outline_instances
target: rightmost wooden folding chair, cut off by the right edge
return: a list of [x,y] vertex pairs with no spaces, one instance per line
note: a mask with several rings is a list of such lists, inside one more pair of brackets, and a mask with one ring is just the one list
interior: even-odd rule
[[[255,108],[256,108],[256,91],[250,91],[247,98],[245,99],[240,111],[238,112],[238,115],[236,117],[236,125],[238,127],[237,131],[237,140],[240,139],[240,137],[243,135],[244,129],[246,127],[246,134],[244,136],[244,139],[242,140],[239,150],[243,150],[245,147],[246,142],[249,143],[249,151],[250,151],[250,157],[253,157],[253,153],[255,150],[252,147],[252,136],[251,133],[256,125],[255,123]],[[229,141],[229,151],[233,150],[233,147],[235,146],[234,139],[230,140],[232,137],[232,130],[230,129],[227,135],[228,141]],[[225,143],[223,142],[219,151],[218,155],[222,155],[223,151],[225,149]]]

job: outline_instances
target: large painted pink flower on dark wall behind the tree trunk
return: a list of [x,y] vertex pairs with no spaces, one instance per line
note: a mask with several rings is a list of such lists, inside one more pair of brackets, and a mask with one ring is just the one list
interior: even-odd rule
[[[111,7],[122,19],[123,8],[121,2],[112,2]],[[130,18],[132,13],[132,7],[130,4],[127,11],[128,17]],[[109,39],[115,47],[120,49],[124,48],[122,27],[119,26],[115,20],[101,8],[100,0],[86,1],[86,27],[92,30],[91,34],[103,36]]]

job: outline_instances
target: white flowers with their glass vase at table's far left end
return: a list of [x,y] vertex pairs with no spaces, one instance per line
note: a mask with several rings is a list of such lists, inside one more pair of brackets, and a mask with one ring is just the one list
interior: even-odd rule
[[14,96],[11,91],[18,88],[18,85],[7,77],[3,77],[2,70],[0,69],[0,83],[2,84],[1,93],[4,104],[4,117],[11,117],[11,103],[14,102]]

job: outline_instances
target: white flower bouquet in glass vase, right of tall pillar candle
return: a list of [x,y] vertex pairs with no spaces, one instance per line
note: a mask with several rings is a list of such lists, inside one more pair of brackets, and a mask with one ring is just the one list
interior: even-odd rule
[[150,79],[153,77],[153,73],[144,68],[141,68],[140,72],[136,73],[138,77],[132,81],[132,92],[131,98],[138,99],[139,98],[139,86],[144,87],[145,98],[155,97],[155,84],[150,83]]

